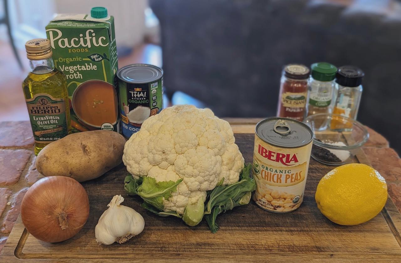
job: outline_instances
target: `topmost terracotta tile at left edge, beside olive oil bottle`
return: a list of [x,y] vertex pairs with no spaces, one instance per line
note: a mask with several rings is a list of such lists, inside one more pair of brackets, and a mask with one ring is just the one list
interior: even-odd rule
[[0,147],[31,147],[33,143],[29,121],[0,122]]

